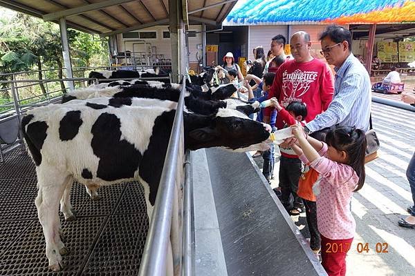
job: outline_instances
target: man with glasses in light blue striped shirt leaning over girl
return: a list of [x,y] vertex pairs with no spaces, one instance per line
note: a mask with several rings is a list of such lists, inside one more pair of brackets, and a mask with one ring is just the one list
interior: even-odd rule
[[339,124],[369,129],[371,83],[365,66],[351,53],[351,33],[340,26],[329,26],[320,35],[322,55],[335,66],[333,101],[329,108],[304,130],[315,132]]

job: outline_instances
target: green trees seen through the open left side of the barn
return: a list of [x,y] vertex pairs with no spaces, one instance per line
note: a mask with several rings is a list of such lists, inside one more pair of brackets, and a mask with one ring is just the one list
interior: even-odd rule
[[[6,13],[8,16],[3,16]],[[68,42],[74,67],[104,66],[107,63],[105,41],[94,39],[91,34],[68,29]],[[0,8],[0,73],[37,70],[37,76],[30,75],[32,78],[56,79],[62,78],[63,67],[60,32],[56,23]],[[40,71],[48,68],[55,70]],[[84,77],[83,74],[76,74],[75,71],[74,75]],[[24,76],[27,79],[27,75],[21,75],[21,78],[25,79]],[[6,79],[10,77],[0,75],[0,80]],[[7,87],[3,84],[0,88]],[[60,87],[65,88],[63,82]],[[29,93],[42,95],[47,88],[41,83],[35,90],[37,92],[30,90]],[[8,92],[2,92],[1,96],[10,98]]]

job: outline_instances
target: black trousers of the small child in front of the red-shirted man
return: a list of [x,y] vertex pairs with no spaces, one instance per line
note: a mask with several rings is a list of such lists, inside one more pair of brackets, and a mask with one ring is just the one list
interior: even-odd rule
[[287,210],[291,209],[290,195],[294,198],[294,208],[302,208],[302,198],[297,195],[298,181],[301,176],[301,160],[298,158],[279,158],[279,187],[281,187],[281,203]]

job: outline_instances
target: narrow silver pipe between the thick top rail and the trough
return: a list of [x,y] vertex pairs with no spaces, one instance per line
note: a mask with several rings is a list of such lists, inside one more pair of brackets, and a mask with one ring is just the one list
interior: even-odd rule
[[183,276],[194,275],[194,248],[192,231],[192,206],[193,206],[193,187],[192,187],[192,157],[187,152],[185,161],[185,186],[184,186],[184,203],[183,203]]

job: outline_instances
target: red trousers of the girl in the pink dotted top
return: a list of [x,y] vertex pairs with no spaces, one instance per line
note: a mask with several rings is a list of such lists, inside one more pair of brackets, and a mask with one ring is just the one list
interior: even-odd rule
[[346,275],[346,255],[351,248],[351,239],[328,239],[322,237],[322,266],[329,276]]

